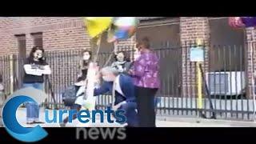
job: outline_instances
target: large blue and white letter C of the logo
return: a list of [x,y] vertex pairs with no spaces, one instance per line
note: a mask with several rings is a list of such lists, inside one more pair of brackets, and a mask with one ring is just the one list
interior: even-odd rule
[[24,102],[41,103],[46,99],[46,94],[42,90],[28,87],[14,92],[2,108],[2,123],[6,131],[13,137],[22,142],[37,142],[46,138],[48,133],[41,126],[32,128],[23,127],[18,123],[16,111]]

